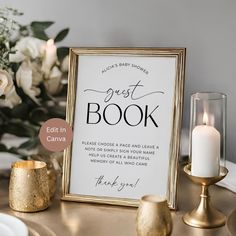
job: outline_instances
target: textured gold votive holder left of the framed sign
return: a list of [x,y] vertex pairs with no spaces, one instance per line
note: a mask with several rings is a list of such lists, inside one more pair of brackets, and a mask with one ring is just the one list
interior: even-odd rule
[[12,164],[9,206],[20,212],[37,212],[49,206],[47,165],[41,161],[18,161]]

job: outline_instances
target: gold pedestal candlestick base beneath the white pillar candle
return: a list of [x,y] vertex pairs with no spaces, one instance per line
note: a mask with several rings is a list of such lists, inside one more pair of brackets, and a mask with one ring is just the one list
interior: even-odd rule
[[227,168],[221,166],[220,174],[215,177],[198,177],[191,175],[191,164],[184,167],[184,172],[193,183],[202,186],[202,192],[199,206],[192,212],[185,214],[183,221],[190,226],[198,228],[216,228],[223,226],[226,217],[211,205],[208,187],[222,180],[228,174]]

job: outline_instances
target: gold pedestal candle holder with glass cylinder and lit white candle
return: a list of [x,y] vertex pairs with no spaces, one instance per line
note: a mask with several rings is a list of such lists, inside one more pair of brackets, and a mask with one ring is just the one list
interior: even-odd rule
[[191,96],[190,159],[184,167],[189,179],[201,185],[199,205],[183,216],[186,224],[214,228],[225,224],[226,217],[210,202],[208,188],[228,173],[225,168],[226,95],[196,93]]

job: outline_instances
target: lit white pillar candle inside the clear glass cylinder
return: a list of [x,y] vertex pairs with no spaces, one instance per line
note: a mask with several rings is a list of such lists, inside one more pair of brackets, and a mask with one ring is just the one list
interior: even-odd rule
[[220,133],[208,125],[208,116],[203,115],[203,125],[192,131],[192,166],[191,174],[199,177],[219,175]]

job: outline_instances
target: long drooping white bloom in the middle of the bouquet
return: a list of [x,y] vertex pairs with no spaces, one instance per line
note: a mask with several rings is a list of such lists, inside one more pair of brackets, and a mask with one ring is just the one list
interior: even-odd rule
[[21,63],[16,72],[16,82],[25,94],[39,104],[36,96],[40,94],[40,89],[33,85],[33,70],[30,62],[24,61]]

